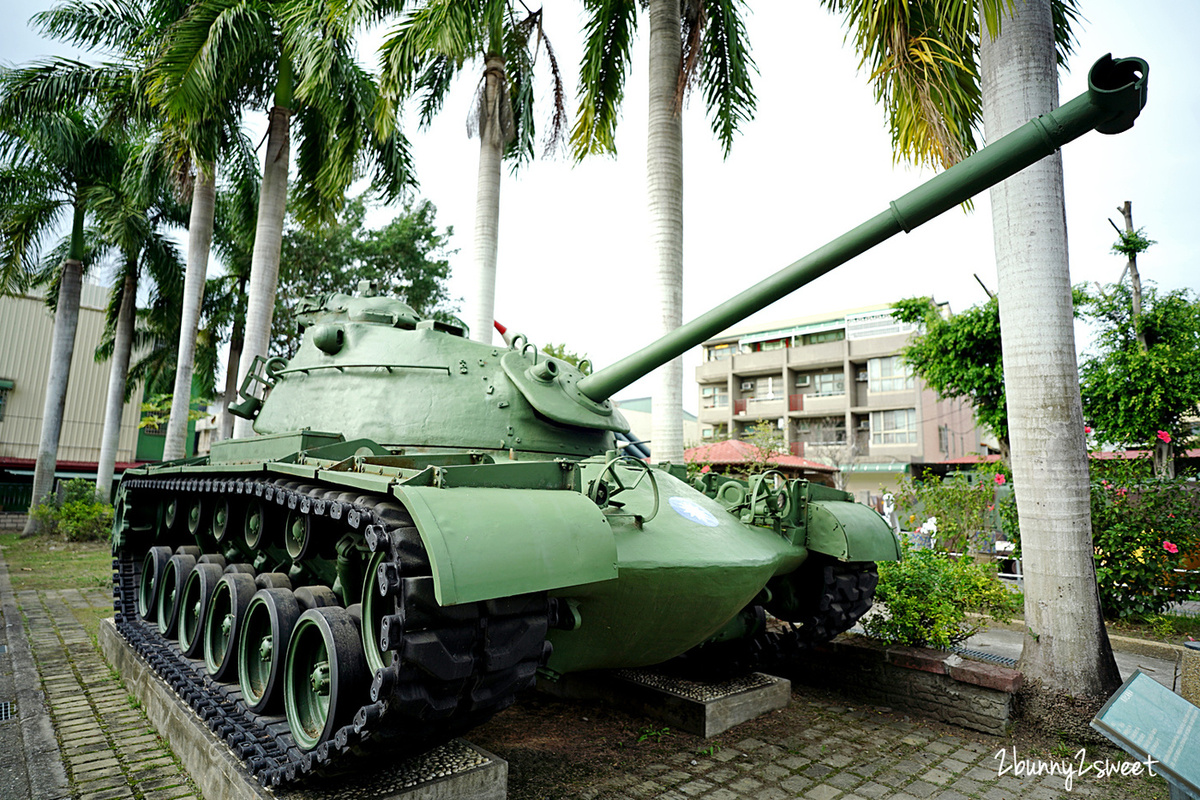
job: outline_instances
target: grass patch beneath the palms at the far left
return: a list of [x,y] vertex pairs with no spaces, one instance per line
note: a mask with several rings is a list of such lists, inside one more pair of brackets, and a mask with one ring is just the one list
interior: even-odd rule
[[102,589],[113,581],[108,542],[68,542],[56,536],[0,534],[13,591]]

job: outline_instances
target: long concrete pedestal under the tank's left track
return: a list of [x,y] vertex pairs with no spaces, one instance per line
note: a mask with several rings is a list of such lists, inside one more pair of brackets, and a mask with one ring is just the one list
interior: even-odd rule
[[[112,619],[100,624],[100,649],[208,800],[504,800],[508,796],[508,763],[462,739],[407,760],[383,754],[378,769],[370,774],[316,778],[300,788],[266,789],[121,638]],[[438,772],[449,774],[438,776]]]

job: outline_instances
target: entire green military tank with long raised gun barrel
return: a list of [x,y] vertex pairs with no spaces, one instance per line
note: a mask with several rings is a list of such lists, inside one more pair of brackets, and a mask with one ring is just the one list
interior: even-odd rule
[[1080,97],[595,373],[370,291],[302,302],[295,357],[256,359],[235,407],[260,435],[125,473],[121,634],[281,784],[448,740],[539,673],[749,668],[850,628],[900,555],[877,513],[773,471],[649,465],[608,398],[1085,132],[1128,128],[1147,72],[1105,56]]

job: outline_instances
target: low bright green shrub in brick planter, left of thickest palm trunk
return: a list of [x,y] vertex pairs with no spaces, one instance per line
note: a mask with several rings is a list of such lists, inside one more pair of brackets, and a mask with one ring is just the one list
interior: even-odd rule
[[900,561],[880,564],[875,599],[886,607],[863,620],[870,636],[942,650],[986,624],[967,622],[967,612],[1007,622],[1021,609],[1020,596],[1004,588],[994,564],[907,546]]

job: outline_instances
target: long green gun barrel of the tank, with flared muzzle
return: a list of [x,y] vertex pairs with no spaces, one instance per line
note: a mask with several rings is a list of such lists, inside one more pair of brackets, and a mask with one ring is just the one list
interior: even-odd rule
[[625,386],[766,308],[860,253],[908,233],[985,188],[1049,156],[1091,130],[1120,133],[1146,104],[1150,66],[1139,58],[1105,55],[1087,76],[1087,91],[1038,116],[954,167],[934,176],[853,230],[726,300],[648,347],[578,383],[584,396],[602,401]]

